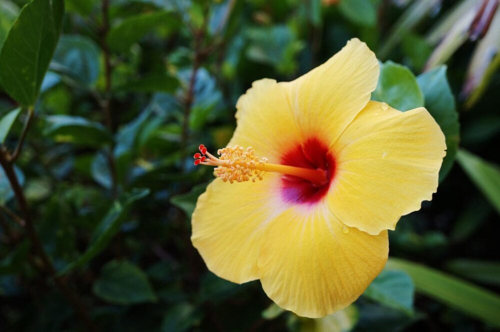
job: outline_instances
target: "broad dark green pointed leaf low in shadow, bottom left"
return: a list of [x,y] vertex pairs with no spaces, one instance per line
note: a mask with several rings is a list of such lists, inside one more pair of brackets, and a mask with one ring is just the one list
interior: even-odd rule
[[107,302],[121,305],[157,300],[146,273],[125,260],[111,260],[102,266],[92,291]]

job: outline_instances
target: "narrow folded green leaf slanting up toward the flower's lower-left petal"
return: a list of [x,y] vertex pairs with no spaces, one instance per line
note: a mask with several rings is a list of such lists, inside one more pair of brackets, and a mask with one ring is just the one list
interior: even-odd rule
[[131,205],[149,194],[149,189],[135,188],[130,193],[122,195],[119,199],[115,200],[106,215],[102,218],[100,223],[96,226],[88,248],[78,258],[66,265],[58,272],[58,275],[63,275],[70,270],[80,267],[90,261],[99,252],[101,252],[109,243],[111,238],[119,230],[123,219],[127,216],[128,210]]

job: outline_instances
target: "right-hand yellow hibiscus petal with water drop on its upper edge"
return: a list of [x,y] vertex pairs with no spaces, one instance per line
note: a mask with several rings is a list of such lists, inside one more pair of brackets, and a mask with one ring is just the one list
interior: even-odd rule
[[370,234],[432,199],[446,145],[423,107],[400,112],[370,101],[333,145],[328,200],[342,222]]

